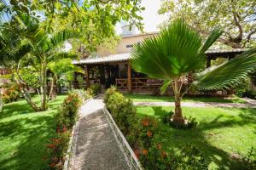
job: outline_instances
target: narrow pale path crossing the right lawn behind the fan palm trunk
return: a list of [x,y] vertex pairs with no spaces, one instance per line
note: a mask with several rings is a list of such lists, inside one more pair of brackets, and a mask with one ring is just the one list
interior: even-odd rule
[[[255,100],[253,100],[255,101]],[[134,102],[139,106],[174,106],[174,102]],[[182,107],[236,107],[236,108],[256,108],[256,103],[217,103],[217,102],[182,102]]]

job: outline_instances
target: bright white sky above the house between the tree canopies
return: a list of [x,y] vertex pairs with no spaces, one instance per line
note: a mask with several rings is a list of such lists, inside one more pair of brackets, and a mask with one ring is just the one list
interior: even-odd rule
[[[163,21],[167,20],[166,15],[158,14],[158,9],[160,8],[161,0],[142,0],[142,6],[145,7],[145,10],[141,14],[143,17],[144,31],[152,32],[159,31],[158,26]],[[124,24],[118,24],[116,26],[116,31],[118,34],[122,33],[121,26]],[[137,31],[137,33],[139,33]]]

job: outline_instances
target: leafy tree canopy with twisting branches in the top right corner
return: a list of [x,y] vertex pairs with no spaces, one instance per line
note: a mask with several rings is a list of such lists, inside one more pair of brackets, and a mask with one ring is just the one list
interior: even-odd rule
[[[255,45],[255,1],[239,0],[172,0],[162,1],[160,14],[168,14],[169,20],[180,16],[202,35],[207,36],[212,27],[219,25],[224,34],[218,39],[232,48]],[[167,22],[166,22],[167,23]],[[220,45],[220,44],[219,44]]]

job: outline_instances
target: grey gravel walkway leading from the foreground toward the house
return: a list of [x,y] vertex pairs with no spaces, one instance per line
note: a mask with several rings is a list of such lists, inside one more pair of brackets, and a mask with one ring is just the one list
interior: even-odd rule
[[92,99],[80,110],[74,134],[72,170],[128,170],[125,156],[104,116],[102,99]]

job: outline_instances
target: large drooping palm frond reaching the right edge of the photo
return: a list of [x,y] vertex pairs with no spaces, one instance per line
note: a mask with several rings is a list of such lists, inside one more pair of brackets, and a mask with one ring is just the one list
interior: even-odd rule
[[213,70],[204,72],[193,82],[193,86],[200,90],[230,88],[247,77],[255,68],[256,48],[253,48]]

